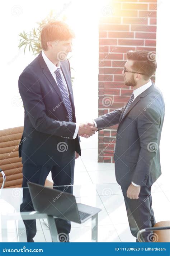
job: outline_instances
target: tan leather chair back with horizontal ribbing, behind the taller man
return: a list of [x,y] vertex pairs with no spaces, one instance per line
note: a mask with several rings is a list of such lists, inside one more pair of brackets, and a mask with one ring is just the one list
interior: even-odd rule
[[[22,138],[23,126],[0,131],[0,168],[4,171],[6,182],[4,187],[21,187],[22,158],[19,158],[18,148]],[[0,188],[3,177],[0,175]]]

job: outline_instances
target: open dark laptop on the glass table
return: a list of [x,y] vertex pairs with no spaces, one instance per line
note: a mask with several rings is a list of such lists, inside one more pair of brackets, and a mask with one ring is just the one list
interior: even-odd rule
[[[75,196],[62,190],[27,182],[35,211],[63,220],[83,223],[101,209],[76,203]],[[64,187],[64,186],[63,186]]]

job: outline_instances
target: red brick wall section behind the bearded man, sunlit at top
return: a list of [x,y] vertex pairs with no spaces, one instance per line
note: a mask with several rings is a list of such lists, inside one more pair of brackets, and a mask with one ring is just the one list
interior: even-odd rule
[[[123,83],[126,52],[146,49],[155,54],[156,2],[120,0],[103,6],[99,22],[99,116],[125,106],[132,94]],[[99,131],[98,162],[114,162],[116,132],[117,125]]]

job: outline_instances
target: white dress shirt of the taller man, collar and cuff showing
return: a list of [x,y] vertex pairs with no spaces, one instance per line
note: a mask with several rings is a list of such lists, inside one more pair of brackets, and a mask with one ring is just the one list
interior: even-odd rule
[[[46,65],[47,65],[49,71],[51,72],[53,78],[55,79],[55,81],[56,81],[56,83],[57,83],[55,71],[56,71],[58,68],[60,68],[60,66],[61,66],[60,61],[57,63],[57,66],[54,65],[54,64],[47,58],[47,56],[46,56],[46,54],[44,53],[43,50],[42,50],[42,57],[43,57],[43,59],[44,59]],[[60,69],[61,69],[61,68],[60,68]],[[65,81],[65,79],[64,79],[64,76],[63,76],[63,74],[62,74],[62,71],[61,71],[61,76],[62,76],[63,83],[64,83],[64,85],[65,85],[65,87],[66,87],[66,89],[67,89],[67,92],[69,93],[69,90],[68,90],[66,81]],[[78,131],[79,131],[79,125],[76,123],[76,129],[75,129],[75,132],[74,132],[73,139],[75,139],[75,138],[77,137]]]

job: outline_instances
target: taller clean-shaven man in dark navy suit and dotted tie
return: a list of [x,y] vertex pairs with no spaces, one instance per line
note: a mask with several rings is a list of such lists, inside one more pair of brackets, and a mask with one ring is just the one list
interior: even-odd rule
[[[23,163],[23,184],[44,185],[49,172],[54,186],[74,184],[75,158],[81,155],[79,135],[92,136],[97,128],[77,124],[71,84],[70,64],[74,33],[61,21],[48,23],[41,32],[42,52],[19,77],[19,92],[25,116],[19,155]],[[72,193],[72,187],[67,188]],[[20,211],[33,211],[28,189],[23,190]],[[27,241],[34,242],[36,221],[24,221]],[[60,234],[69,242],[70,222],[56,220]]]

